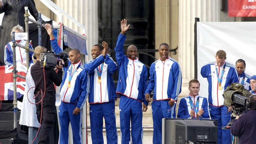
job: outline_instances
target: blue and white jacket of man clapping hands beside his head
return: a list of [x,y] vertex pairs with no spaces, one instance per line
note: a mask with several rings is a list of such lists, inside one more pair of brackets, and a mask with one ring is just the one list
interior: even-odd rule
[[[101,70],[101,64],[103,68]],[[98,73],[102,71],[101,83],[98,83]],[[109,54],[106,55],[106,59],[102,55],[96,59],[92,59],[86,62],[86,71],[90,75],[90,93],[89,103],[105,103],[116,100],[116,88],[112,78],[112,74],[117,70],[117,63],[114,62]]]

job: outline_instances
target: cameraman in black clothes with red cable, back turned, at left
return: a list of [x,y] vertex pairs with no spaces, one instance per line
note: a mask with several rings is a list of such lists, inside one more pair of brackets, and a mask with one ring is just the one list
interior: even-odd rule
[[62,82],[63,66],[61,64],[58,65],[57,73],[53,67],[45,68],[43,71],[43,68],[40,67],[39,57],[40,53],[44,52],[45,48],[41,46],[35,48],[37,62],[31,67],[31,76],[36,87],[34,91],[36,97],[35,102],[38,103],[36,104],[37,119],[39,123],[41,120],[38,144],[57,144],[59,140],[59,127],[55,106],[56,91],[53,83],[56,86],[60,86]]

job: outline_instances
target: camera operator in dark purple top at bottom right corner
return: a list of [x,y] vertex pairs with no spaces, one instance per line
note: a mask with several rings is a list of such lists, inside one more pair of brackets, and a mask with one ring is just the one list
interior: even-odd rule
[[249,110],[247,113],[237,116],[230,127],[231,133],[239,137],[239,144],[252,144],[256,142],[256,96],[253,95],[247,100],[250,103]]

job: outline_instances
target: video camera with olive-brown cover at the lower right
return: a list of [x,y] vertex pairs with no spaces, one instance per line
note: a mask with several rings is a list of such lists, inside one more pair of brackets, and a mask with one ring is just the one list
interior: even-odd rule
[[232,106],[231,117],[240,116],[248,110],[246,101],[250,95],[252,94],[239,83],[232,83],[226,88],[223,93],[224,105]]

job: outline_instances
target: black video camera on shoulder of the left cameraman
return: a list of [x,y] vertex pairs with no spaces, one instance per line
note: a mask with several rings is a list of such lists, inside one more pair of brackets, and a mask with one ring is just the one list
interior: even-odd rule
[[52,51],[48,51],[45,53],[40,53],[40,66],[49,68],[49,67],[56,67],[59,64],[58,57],[64,61],[64,67],[68,66],[68,53],[60,52],[56,54]]

